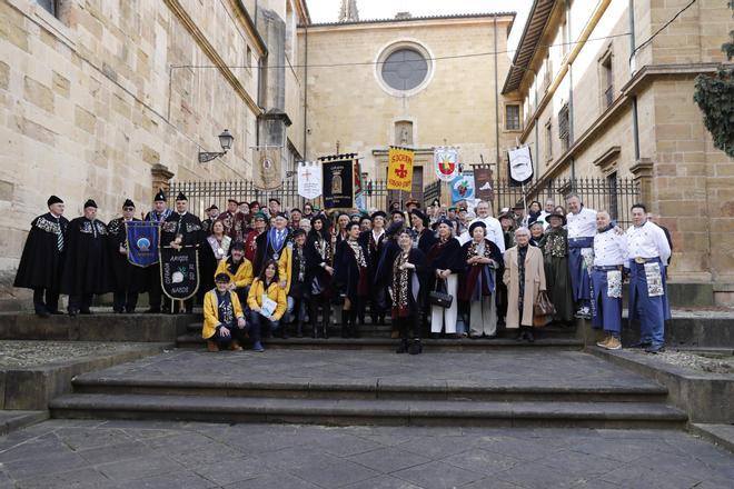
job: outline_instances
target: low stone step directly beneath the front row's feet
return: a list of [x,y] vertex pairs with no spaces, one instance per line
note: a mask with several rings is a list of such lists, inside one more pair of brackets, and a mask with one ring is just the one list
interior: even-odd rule
[[[556,349],[556,350],[581,350],[584,348],[584,342],[576,338],[537,338],[534,343],[526,341],[515,341],[509,338],[494,338],[494,339],[424,339],[421,340],[424,351],[484,351],[496,349]],[[178,348],[204,348],[205,341],[198,332],[190,332],[181,335],[177,338],[176,345]],[[321,349],[339,349],[339,350],[395,350],[398,340],[388,338],[388,333],[379,337],[361,337],[361,338],[334,338],[329,339],[314,339],[314,338],[288,338],[287,340],[280,338],[269,338],[264,340],[266,349],[299,349],[299,350],[321,350]]]

